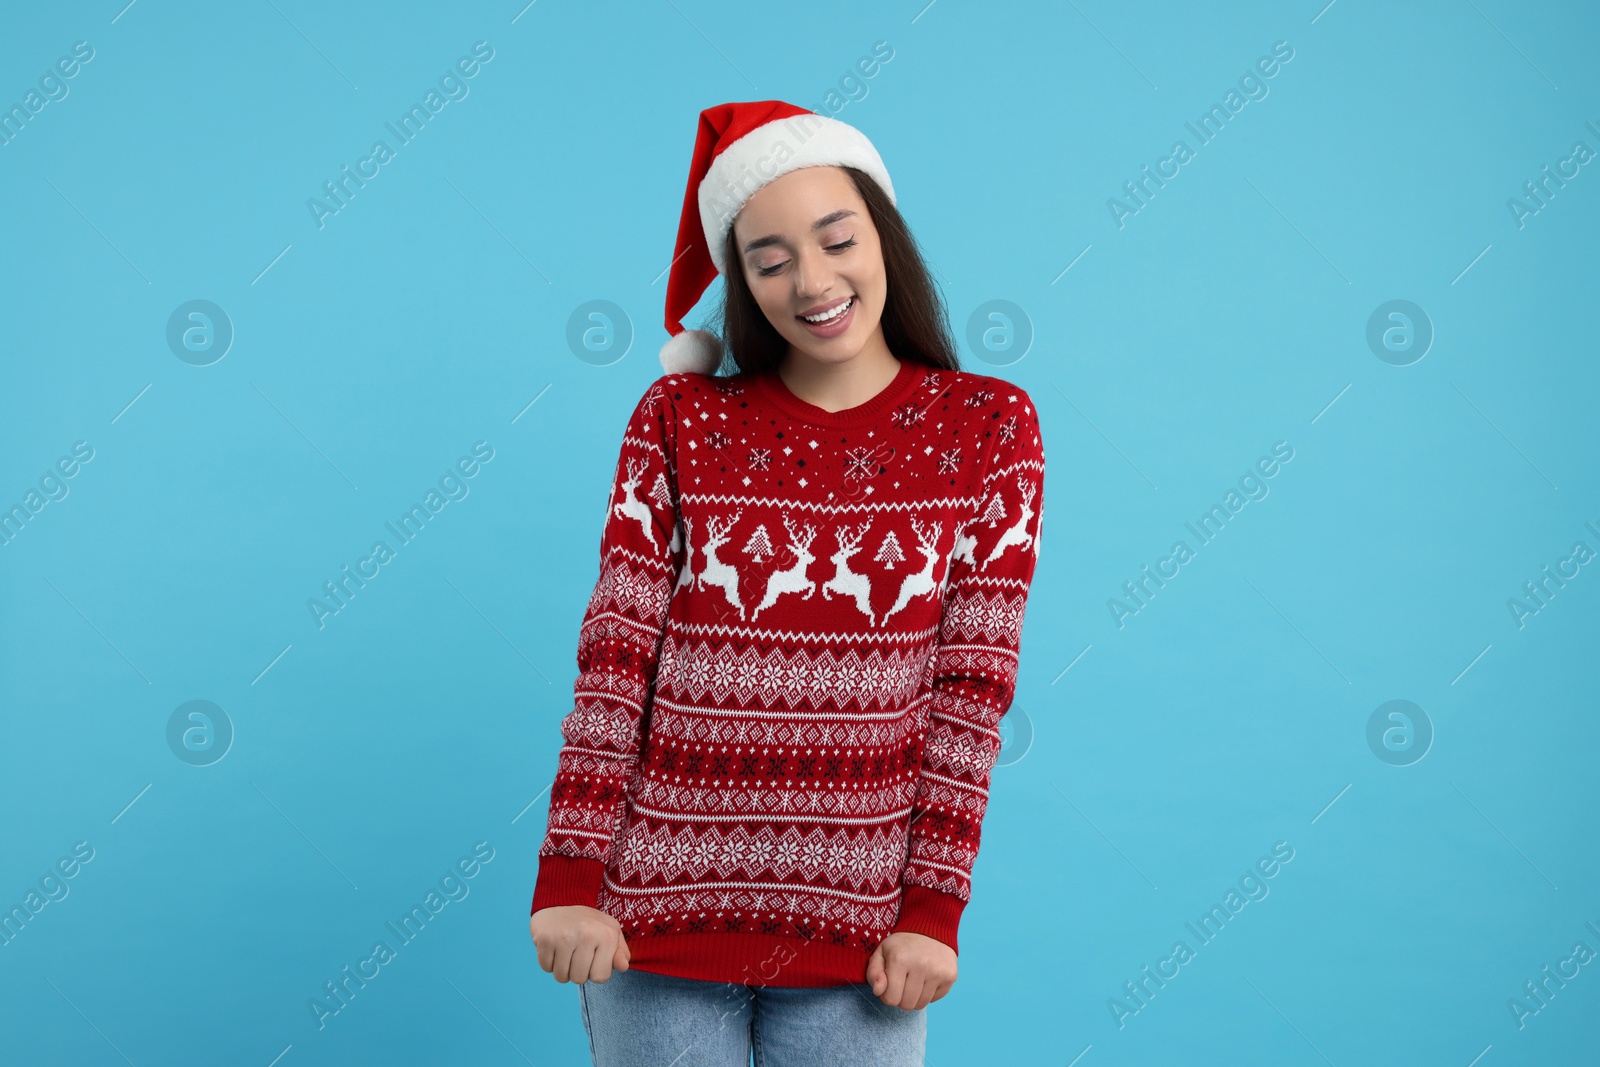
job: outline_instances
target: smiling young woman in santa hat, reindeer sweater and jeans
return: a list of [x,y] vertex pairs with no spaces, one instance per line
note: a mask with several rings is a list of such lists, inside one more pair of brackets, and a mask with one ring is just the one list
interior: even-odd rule
[[[678,322],[718,274],[725,346]],[[1038,558],[1038,413],[958,368],[870,142],[781,101],[701,112],[667,330],[579,632],[539,966],[602,1067],[922,1064]]]

